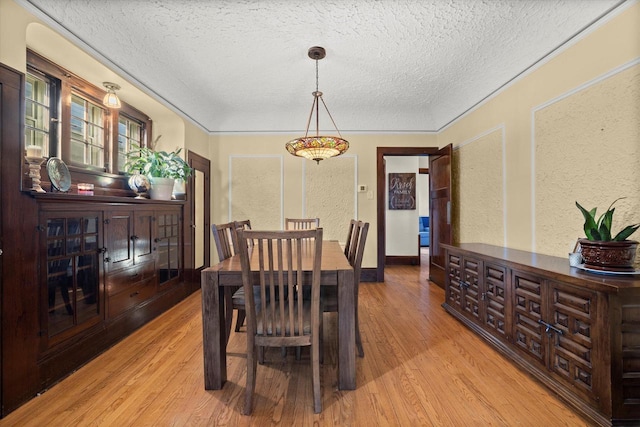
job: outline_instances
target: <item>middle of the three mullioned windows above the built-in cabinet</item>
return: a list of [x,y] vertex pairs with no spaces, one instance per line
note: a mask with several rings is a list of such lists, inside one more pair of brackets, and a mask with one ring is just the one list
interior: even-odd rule
[[104,168],[105,110],[71,94],[71,162]]

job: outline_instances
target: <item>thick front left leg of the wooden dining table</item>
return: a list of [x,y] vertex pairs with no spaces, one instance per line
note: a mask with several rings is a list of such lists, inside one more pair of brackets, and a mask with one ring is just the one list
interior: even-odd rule
[[203,271],[201,288],[204,388],[220,390],[227,380],[227,340],[224,328],[224,289],[218,286],[218,272]]

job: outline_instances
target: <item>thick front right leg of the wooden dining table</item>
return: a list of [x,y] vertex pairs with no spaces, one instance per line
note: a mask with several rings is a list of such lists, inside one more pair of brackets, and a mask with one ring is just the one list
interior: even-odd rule
[[338,271],[338,387],[356,388],[355,286],[353,270]]

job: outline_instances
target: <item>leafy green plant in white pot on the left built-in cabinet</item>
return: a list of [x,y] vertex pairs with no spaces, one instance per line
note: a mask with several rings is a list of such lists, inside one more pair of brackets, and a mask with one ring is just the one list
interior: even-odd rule
[[169,200],[175,180],[186,181],[192,174],[191,167],[180,157],[180,151],[181,148],[166,152],[134,145],[133,150],[127,153],[125,171],[149,178],[152,199]]

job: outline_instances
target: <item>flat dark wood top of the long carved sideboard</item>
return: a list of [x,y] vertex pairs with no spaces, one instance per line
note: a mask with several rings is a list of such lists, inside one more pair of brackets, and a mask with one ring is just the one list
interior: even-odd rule
[[484,243],[460,243],[442,245],[445,249],[462,250],[469,255],[506,261],[510,267],[541,273],[552,279],[562,280],[605,292],[618,292],[626,288],[640,288],[640,275],[613,275],[590,273],[569,266],[568,258],[554,257],[533,252],[510,249]]

